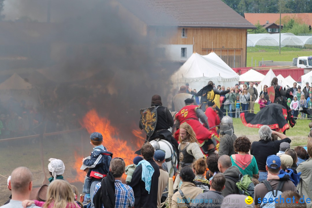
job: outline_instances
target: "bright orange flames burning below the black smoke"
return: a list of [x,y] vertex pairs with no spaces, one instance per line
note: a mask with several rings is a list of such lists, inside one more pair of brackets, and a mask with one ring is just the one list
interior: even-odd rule
[[[107,151],[113,153],[113,157],[121,157],[126,165],[132,164],[134,157],[138,156],[134,152],[141,148],[144,143],[143,132],[133,130],[133,139],[131,142],[119,138],[118,129],[110,124],[110,120],[100,117],[95,109],[90,110],[80,122],[81,126],[86,128],[89,133],[100,132],[103,135],[103,145]],[[80,156],[75,152],[75,165],[79,177],[77,181],[84,181],[86,173],[80,170],[82,158],[89,155]]]

